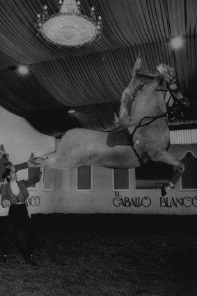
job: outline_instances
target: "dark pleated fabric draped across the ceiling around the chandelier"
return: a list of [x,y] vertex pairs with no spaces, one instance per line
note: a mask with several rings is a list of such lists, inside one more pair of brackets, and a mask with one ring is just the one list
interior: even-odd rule
[[[58,0],[0,1],[0,104],[54,137],[73,127],[107,129],[118,114],[120,98],[140,54],[143,70],[159,63],[175,68],[178,85],[189,98],[187,116],[172,130],[197,123],[197,1],[81,0],[90,15],[102,16],[102,38],[91,46],[56,47],[38,38],[36,15],[47,4],[56,13]],[[184,47],[171,49],[171,37],[182,36]],[[17,65],[29,65],[19,75]],[[75,114],[68,114],[74,108]]]

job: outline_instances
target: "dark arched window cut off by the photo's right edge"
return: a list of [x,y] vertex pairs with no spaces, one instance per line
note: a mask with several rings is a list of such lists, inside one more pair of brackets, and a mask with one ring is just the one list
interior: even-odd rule
[[184,161],[185,169],[182,173],[180,187],[182,190],[197,190],[197,157],[188,151],[182,160]]

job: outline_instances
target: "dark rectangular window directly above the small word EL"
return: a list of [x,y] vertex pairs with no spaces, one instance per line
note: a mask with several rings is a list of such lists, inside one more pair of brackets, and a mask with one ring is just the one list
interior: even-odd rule
[[130,171],[129,169],[113,169],[113,190],[130,189]]

